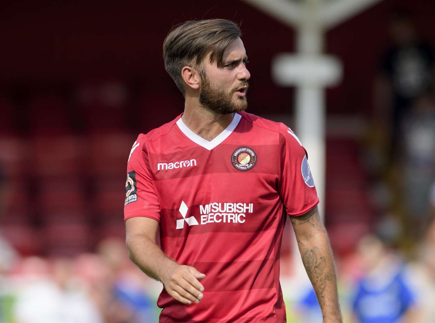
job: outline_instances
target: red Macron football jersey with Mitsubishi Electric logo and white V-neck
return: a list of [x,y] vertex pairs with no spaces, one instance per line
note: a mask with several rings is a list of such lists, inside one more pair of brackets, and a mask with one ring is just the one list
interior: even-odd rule
[[318,197],[298,137],[283,123],[234,114],[211,141],[178,116],[140,134],[127,163],[124,219],[160,223],[161,247],[206,277],[199,304],[162,290],[160,322],[285,322],[279,254],[286,213]]

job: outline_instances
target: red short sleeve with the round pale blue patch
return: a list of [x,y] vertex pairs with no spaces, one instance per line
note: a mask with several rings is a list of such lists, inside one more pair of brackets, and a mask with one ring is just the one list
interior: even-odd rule
[[287,214],[299,216],[319,203],[308,154],[293,131],[281,124],[278,189]]

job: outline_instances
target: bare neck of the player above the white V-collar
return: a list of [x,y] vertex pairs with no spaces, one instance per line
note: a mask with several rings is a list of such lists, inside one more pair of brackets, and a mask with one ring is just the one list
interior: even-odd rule
[[205,140],[211,141],[224,131],[234,118],[234,113],[215,113],[199,104],[184,104],[181,120],[192,132]]

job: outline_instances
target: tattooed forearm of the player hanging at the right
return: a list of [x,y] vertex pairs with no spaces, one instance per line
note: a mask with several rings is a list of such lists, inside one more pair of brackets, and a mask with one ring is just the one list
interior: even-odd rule
[[302,262],[316,293],[324,322],[341,322],[334,258],[325,230],[298,239]]

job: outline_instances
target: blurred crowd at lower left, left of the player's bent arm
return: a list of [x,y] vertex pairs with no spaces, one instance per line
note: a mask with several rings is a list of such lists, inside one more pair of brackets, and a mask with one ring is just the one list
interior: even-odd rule
[[161,286],[128,259],[123,240],[103,240],[96,253],[73,257],[21,257],[4,240],[0,247],[0,322],[158,320]]

